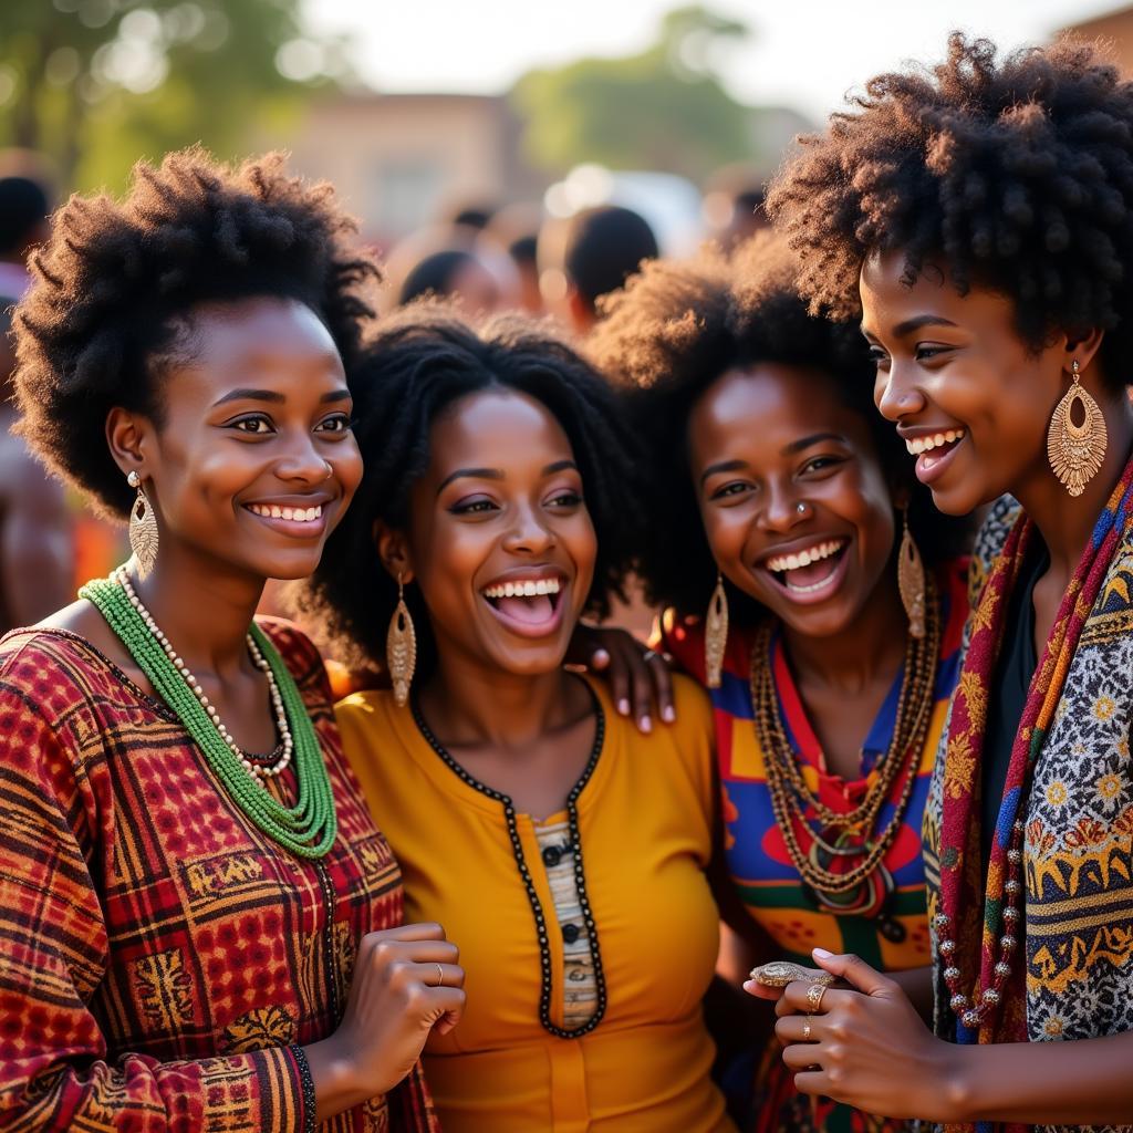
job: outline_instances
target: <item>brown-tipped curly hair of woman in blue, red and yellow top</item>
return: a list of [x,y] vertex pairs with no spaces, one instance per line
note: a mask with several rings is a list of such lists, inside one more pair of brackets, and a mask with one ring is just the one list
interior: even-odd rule
[[[794,255],[770,233],[731,259],[708,248],[688,262],[656,261],[605,300],[605,318],[590,339],[590,356],[621,390],[646,452],[638,572],[649,600],[681,615],[704,614],[716,581],[688,465],[689,417],[708,387],[735,368],[777,363],[829,375],[842,402],[868,420],[889,483],[908,493],[910,529],[925,561],[938,563],[968,546],[968,521],[936,511],[904,445],[874,407],[874,366],[858,326],[811,315],[796,274]],[[758,603],[725,585],[738,624],[760,616]]]

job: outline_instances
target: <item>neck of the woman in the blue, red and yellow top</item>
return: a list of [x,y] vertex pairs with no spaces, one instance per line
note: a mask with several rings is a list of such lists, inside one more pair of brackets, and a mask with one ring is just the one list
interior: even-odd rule
[[874,588],[858,616],[830,637],[807,637],[783,627],[783,642],[800,682],[821,684],[847,696],[879,679],[892,679],[905,656],[909,620],[892,573]]

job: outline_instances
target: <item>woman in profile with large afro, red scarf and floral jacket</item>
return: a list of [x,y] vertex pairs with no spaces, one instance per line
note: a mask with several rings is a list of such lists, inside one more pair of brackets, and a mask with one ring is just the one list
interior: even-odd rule
[[936,505],[994,504],[925,821],[936,1033],[816,953],[858,991],[791,985],[784,1060],[894,1116],[1133,1127],[1133,84],[1070,40],[953,35],[770,211]]

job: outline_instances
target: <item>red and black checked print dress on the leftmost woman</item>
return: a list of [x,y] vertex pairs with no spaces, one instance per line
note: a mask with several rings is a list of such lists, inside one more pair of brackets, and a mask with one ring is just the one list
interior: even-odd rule
[[[296,1133],[289,1043],[335,1028],[401,877],[342,757],[318,654],[265,621],[330,770],[334,846],[265,837],[164,704],[85,639],[0,642],[0,1127]],[[295,775],[280,776],[293,798]],[[324,1133],[432,1133],[419,1071]]]

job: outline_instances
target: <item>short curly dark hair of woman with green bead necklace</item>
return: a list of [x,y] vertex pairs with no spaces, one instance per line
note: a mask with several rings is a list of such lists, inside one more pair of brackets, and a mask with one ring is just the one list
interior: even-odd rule
[[331,187],[289,177],[280,154],[237,169],[194,147],[157,169],[139,162],[120,204],[71,197],[16,313],[19,431],[95,506],[123,518],[134,493],[107,445],[107,415],[121,407],[161,425],[162,380],[191,350],[196,305],[301,301],[349,372],[378,275],[353,231]]

